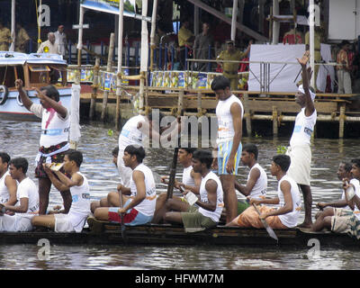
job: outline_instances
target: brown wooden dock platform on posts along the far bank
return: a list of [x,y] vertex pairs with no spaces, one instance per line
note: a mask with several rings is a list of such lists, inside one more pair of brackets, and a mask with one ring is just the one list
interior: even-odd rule
[[[139,86],[124,85],[127,94],[139,93]],[[148,87],[147,101],[151,108],[162,112],[174,113],[184,109],[184,115],[215,116],[218,103],[215,94],[206,89],[184,89],[166,87]],[[252,134],[252,121],[272,121],[273,135],[278,135],[279,126],[284,121],[295,121],[300,107],[295,103],[295,93],[258,91],[234,91],[244,104],[244,118],[247,134]],[[360,94],[317,94],[315,108],[318,112],[317,121],[328,121],[338,124],[338,138],[344,138],[346,122],[360,121],[360,111],[352,111],[353,99]],[[91,94],[81,94],[81,102],[86,103]],[[109,94],[109,103],[116,102],[116,96]],[[98,93],[97,102],[102,101],[102,93]],[[130,97],[121,95],[121,103],[130,103]]]

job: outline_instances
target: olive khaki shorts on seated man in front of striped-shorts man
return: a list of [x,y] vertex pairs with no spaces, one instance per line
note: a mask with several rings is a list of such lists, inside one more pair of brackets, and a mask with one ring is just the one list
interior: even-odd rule
[[199,232],[216,226],[210,217],[205,217],[198,211],[198,208],[190,206],[187,212],[181,213],[185,232]]

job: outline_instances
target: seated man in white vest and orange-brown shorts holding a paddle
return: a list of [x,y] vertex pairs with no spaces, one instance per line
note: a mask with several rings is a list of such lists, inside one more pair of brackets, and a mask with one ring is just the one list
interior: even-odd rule
[[302,198],[300,197],[298,185],[289,175],[286,175],[290,161],[290,157],[287,155],[273,157],[270,172],[278,181],[277,197],[261,200],[250,199],[251,205],[253,203],[256,205],[279,204],[279,208],[275,209],[266,205],[259,206],[259,215],[255,207],[250,206],[227,226],[264,228],[261,219],[266,220],[267,224],[273,229],[288,229],[297,225],[302,210]]

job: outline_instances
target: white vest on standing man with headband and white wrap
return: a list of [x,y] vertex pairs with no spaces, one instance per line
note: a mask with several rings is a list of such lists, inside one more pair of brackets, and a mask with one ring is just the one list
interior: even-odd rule
[[305,108],[302,108],[302,111],[296,115],[293,135],[290,139],[291,147],[304,144],[310,145],[311,134],[314,130],[317,117],[318,114],[316,110],[311,114],[311,116],[306,117]]

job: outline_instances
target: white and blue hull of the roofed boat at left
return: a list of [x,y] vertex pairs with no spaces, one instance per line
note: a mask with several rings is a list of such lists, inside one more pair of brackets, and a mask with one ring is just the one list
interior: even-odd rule
[[[35,95],[35,90],[28,90],[28,95],[33,103],[40,103],[39,98]],[[71,109],[71,87],[58,88],[60,94],[60,101],[62,105],[67,107],[67,111]],[[4,104],[0,105],[0,118],[12,121],[40,121],[32,112],[29,112],[23,103],[19,103],[19,93],[10,90],[7,100]]]

